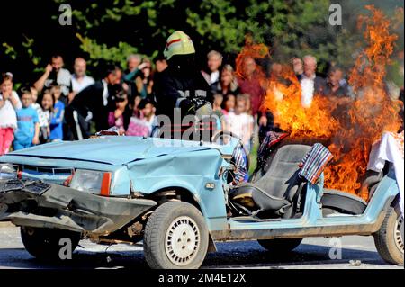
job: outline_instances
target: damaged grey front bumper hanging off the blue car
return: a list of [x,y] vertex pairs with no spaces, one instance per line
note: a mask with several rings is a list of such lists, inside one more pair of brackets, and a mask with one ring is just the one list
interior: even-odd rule
[[0,220],[106,236],[152,209],[146,199],[103,197],[40,181],[0,180]]

